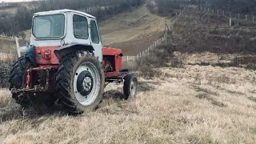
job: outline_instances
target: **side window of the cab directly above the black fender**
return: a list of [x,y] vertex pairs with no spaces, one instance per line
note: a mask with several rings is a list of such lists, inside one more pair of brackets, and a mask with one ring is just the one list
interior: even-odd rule
[[86,17],[74,14],[73,16],[74,37],[88,39],[88,21]]

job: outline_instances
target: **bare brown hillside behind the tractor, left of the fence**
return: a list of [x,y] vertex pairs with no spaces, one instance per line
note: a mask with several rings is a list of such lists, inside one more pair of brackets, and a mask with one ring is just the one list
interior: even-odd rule
[[136,55],[163,35],[164,21],[165,18],[141,6],[101,22],[102,42],[105,46],[122,49],[125,55]]

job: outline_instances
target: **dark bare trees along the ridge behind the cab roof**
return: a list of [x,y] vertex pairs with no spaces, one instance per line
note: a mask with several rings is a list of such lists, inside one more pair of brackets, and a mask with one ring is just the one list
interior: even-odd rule
[[0,13],[0,34],[7,36],[24,36],[22,30],[31,27],[32,15],[47,10],[82,10],[97,17],[99,20],[111,15],[131,10],[146,0],[43,0],[30,2],[29,6],[18,6],[15,14]]

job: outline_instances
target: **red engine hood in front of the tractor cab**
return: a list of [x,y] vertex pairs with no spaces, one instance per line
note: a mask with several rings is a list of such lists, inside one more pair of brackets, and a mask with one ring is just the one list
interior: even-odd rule
[[[102,53],[103,53],[103,56],[105,56],[105,55],[114,56],[115,71],[119,72],[121,70],[121,67],[122,67],[122,56],[120,56],[120,54],[122,54],[122,50],[114,49],[114,48],[111,48],[111,47],[103,47]],[[106,62],[104,62],[104,60],[103,60],[103,64],[104,63],[106,63]]]

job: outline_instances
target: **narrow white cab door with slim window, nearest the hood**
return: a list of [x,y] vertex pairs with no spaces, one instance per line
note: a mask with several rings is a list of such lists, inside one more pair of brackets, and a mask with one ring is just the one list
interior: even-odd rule
[[91,46],[94,47],[94,55],[102,62],[102,40],[98,32],[98,25],[96,20],[90,19],[90,40]]

